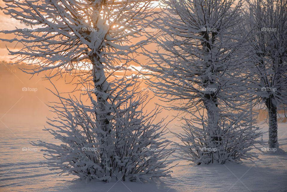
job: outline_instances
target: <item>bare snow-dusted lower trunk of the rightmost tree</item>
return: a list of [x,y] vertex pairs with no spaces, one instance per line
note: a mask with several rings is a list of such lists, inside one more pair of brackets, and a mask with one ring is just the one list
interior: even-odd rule
[[268,144],[270,148],[278,148],[278,136],[277,136],[277,106],[274,104],[274,99],[269,97],[265,103],[268,108],[269,116],[269,140]]

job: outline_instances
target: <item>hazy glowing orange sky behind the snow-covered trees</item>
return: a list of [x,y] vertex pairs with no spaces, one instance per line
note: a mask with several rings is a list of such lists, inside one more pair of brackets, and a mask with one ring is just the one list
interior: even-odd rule
[[[0,6],[5,6],[2,0],[0,0]],[[4,15],[2,11],[0,12],[0,18],[0,25],[3,26],[1,30],[13,30],[15,29],[15,27],[27,27],[24,24],[21,24],[20,22],[16,21],[15,19]],[[14,38],[14,35],[1,34],[1,38],[10,39]],[[53,116],[53,114],[49,112],[49,109],[45,105],[45,103],[57,100],[57,98],[53,96],[50,91],[46,90],[46,87],[51,89],[52,86],[48,81],[42,81],[41,77],[43,77],[45,73],[40,73],[39,75],[36,75],[30,79],[31,75],[21,72],[19,69],[16,69],[16,67],[4,64],[12,62],[10,60],[12,57],[8,55],[6,46],[10,50],[18,50],[22,48],[22,45],[20,43],[16,44],[0,41],[0,62],[2,64],[1,69],[3,69],[0,71],[0,85],[2,90],[0,93],[0,119],[3,121],[3,123],[7,125],[14,124],[17,122],[35,122],[39,125],[42,125],[46,121],[46,116]],[[152,49],[154,48],[154,46],[149,45],[147,46],[147,48]],[[147,62],[146,58],[144,57],[138,57],[137,59],[141,63]],[[139,66],[137,67],[137,69],[140,68],[141,67]],[[57,85],[57,89],[59,89],[60,92],[70,92],[74,89],[74,86],[72,84],[66,84],[64,79],[60,79],[57,81],[57,79],[54,78],[52,79],[52,81]],[[22,88],[24,87],[36,88],[37,91],[22,91]],[[142,83],[141,89],[145,88],[147,88],[147,86]],[[149,93],[153,95],[151,91],[149,91]],[[161,101],[159,101],[158,99],[154,99],[154,102]],[[149,106],[150,108],[154,108],[154,102],[151,103],[151,105]],[[161,104],[163,103],[161,102]],[[15,121],[15,117],[17,117],[17,121]],[[36,120],[35,117],[37,117]],[[167,117],[167,114],[162,113],[161,115],[159,115],[158,119],[161,119],[162,117]]]

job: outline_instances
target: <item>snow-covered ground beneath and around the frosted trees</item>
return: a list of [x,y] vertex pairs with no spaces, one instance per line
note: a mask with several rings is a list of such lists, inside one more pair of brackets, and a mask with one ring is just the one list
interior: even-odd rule
[[[267,131],[267,124],[263,125]],[[45,161],[40,148],[30,146],[30,141],[51,141],[49,133],[39,126],[0,126],[0,191],[61,191],[61,192],[287,192],[287,154],[260,155],[261,160],[242,164],[191,166],[179,163],[174,167],[172,178],[152,183],[115,181],[65,182],[69,176],[57,176],[55,171],[39,165]],[[176,130],[177,129],[177,130]],[[173,128],[172,131],[181,131]],[[287,150],[287,124],[279,124],[279,143]],[[171,134],[167,136],[176,141]],[[268,133],[263,140],[267,140]],[[23,147],[30,147],[22,151]],[[24,149],[25,150],[25,149]],[[173,158],[173,157],[171,157]]]

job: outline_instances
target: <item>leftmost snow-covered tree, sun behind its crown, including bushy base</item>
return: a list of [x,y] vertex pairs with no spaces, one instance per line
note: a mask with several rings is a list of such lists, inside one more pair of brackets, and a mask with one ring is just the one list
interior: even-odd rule
[[74,75],[91,103],[56,94],[60,102],[51,107],[58,118],[47,130],[62,144],[40,142],[47,148],[48,166],[87,181],[169,176],[165,168],[169,163],[163,159],[171,153],[163,149],[168,141],[159,139],[163,127],[152,123],[157,112],[145,115],[140,106],[146,96],[140,101],[134,95],[138,92],[129,90],[135,88],[137,76],[133,80],[116,76],[119,71],[126,74],[131,61],[137,63],[137,49],[148,43],[137,37],[156,13],[151,1],[4,2],[5,14],[29,26],[1,31],[16,35],[1,40],[23,44],[19,51],[9,50],[17,63],[34,66],[22,70],[33,75],[49,71],[48,79]]

